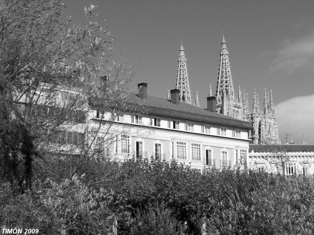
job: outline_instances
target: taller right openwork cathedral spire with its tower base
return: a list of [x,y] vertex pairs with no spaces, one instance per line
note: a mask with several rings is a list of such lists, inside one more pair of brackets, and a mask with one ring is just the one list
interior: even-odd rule
[[[225,37],[221,40],[220,60],[216,87],[216,110],[218,113],[243,120],[243,101],[241,94],[235,97],[230,70],[229,53]],[[239,88],[239,92],[241,90]]]

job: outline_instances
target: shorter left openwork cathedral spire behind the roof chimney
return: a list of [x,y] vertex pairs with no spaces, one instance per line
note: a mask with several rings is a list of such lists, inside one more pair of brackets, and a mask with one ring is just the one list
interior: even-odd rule
[[180,100],[186,103],[191,103],[191,92],[189,78],[187,76],[187,59],[184,55],[184,48],[181,44],[180,55],[178,58],[178,71],[176,78],[176,89],[180,90]]

